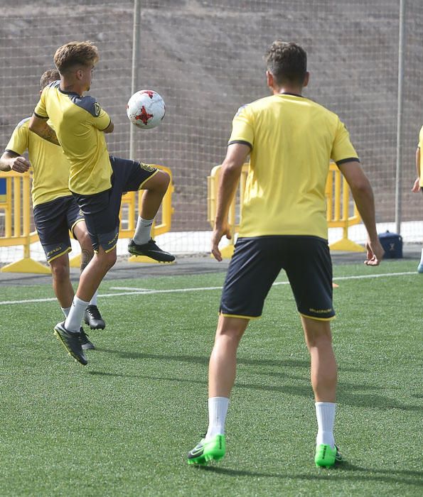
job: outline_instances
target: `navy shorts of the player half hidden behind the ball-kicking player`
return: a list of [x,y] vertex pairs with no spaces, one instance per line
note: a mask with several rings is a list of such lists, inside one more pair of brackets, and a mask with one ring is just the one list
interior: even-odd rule
[[34,207],[34,222],[47,261],[71,250],[69,231],[84,220],[84,214],[72,195],[59,197]]

